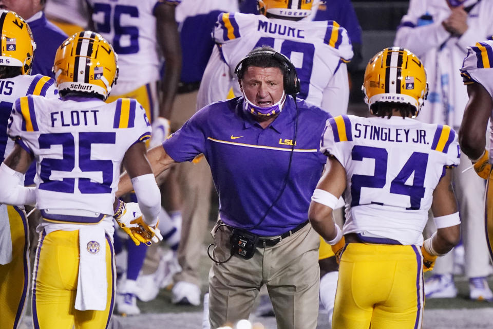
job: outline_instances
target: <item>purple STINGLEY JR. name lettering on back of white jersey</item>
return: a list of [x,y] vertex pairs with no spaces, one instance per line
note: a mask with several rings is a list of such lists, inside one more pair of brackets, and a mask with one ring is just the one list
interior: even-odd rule
[[[405,129],[374,126],[370,124],[356,123],[354,125],[354,138],[381,140],[400,143],[429,144],[426,141],[426,131],[423,129]],[[412,131],[412,132],[411,132]]]

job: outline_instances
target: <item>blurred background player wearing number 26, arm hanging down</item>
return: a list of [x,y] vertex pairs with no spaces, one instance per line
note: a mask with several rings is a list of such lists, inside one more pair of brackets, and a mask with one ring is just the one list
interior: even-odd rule
[[[180,0],[87,1],[94,29],[111,43],[119,55],[118,84],[107,102],[128,97],[142,104],[153,124],[151,144],[155,145],[161,144],[169,134],[168,119],[180,79],[181,47],[175,20],[178,3]],[[160,74],[162,55],[165,58],[163,80]],[[158,94],[161,94],[160,100]],[[166,242],[176,250],[180,223],[175,224],[164,213],[160,218]],[[129,240],[125,244],[129,257],[126,278],[119,284],[117,311],[133,315],[140,313],[136,304],[136,280],[147,248],[145,245],[137,247]]]

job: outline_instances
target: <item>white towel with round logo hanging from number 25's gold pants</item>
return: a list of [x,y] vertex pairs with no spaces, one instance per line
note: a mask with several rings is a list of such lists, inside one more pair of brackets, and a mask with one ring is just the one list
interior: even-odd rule
[[80,228],[79,247],[79,281],[75,309],[105,310],[108,283],[104,229],[91,225]]

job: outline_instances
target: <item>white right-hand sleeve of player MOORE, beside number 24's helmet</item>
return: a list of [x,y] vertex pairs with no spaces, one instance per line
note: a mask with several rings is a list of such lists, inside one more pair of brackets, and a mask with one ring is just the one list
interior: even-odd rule
[[334,76],[324,89],[320,107],[333,117],[347,114],[349,103],[349,80],[346,63],[341,62]]

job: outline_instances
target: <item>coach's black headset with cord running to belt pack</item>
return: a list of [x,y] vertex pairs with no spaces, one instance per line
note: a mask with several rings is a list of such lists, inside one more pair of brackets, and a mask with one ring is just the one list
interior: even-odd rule
[[[247,230],[252,230],[260,226],[262,222],[266,219],[267,215],[271,211],[271,209],[275,206],[275,204],[278,202],[278,200],[281,198],[282,193],[286,189],[286,186],[288,185],[288,179],[289,179],[289,174],[291,172],[291,163],[293,161],[293,153],[294,153],[294,145],[296,145],[296,138],[298,136],[298,118],[299,118],[299,109],[298,109],[298,103],[296,102],[296,94],[299,93],[300,90],[300,82],[298,79],[298,75],[296,74],[296,68],[294,67],[293,63],[284,56],[283,54],[277,52],[277,51],[272,51],[272,50],[259,50],[259,51],[254,51],[252,53],[249,53],[247,57],[243,58],[238,65],[236,65],[235,68],[235,74],[238,76],[238,71],[241,69],[240,65],[247,59],[250,59],[255,56],[260,56],[263,54],[271,54],[273,58],[275,58],[278,62],[283,64],[285,66],[285,72],[284,72],[284,91],[286,94],[291,95],[294,99],[294,104],[296,106],[296,123],[294,127],[294,138],[293,138],[293,144],[291,146],[291,152],[289,155],[289,162],[288,162],[288,171],[286,173],[286,176],[284,177],[284,180],[282,182],[282,186],[279,190],[279,193],[277,194],[276,198],[274,201],[271,203],[269,208],[267,208],[266,212],[264,212],[263,216],[260,218],[260,221],[255,224],[254,226],[243,228],[243,229],[236,229],[233,228],[233,231],[230,234],[230,244],[232,246],[231,248],[231,253],[230,256],[224,260],[224,261],[219,261],[214,259],[214,257],[211,255],[209,252],[209,249],[214,246],[214,243],[211,243],[207,247],[207,255],[208,257],[216,264],[224,264],[228,262],[234,254],[238,254],[244,259],[250,259],[253,257],[253,254],[256,249],[256,244],[258,240],[258,236],[256,234],[252,234],[248,232]],[[240,76],[238,76],[238,79],[241,79]],[[226,224],[220,224],[214,232],[217,232],[217,230],[221,226],[228,226]]]

